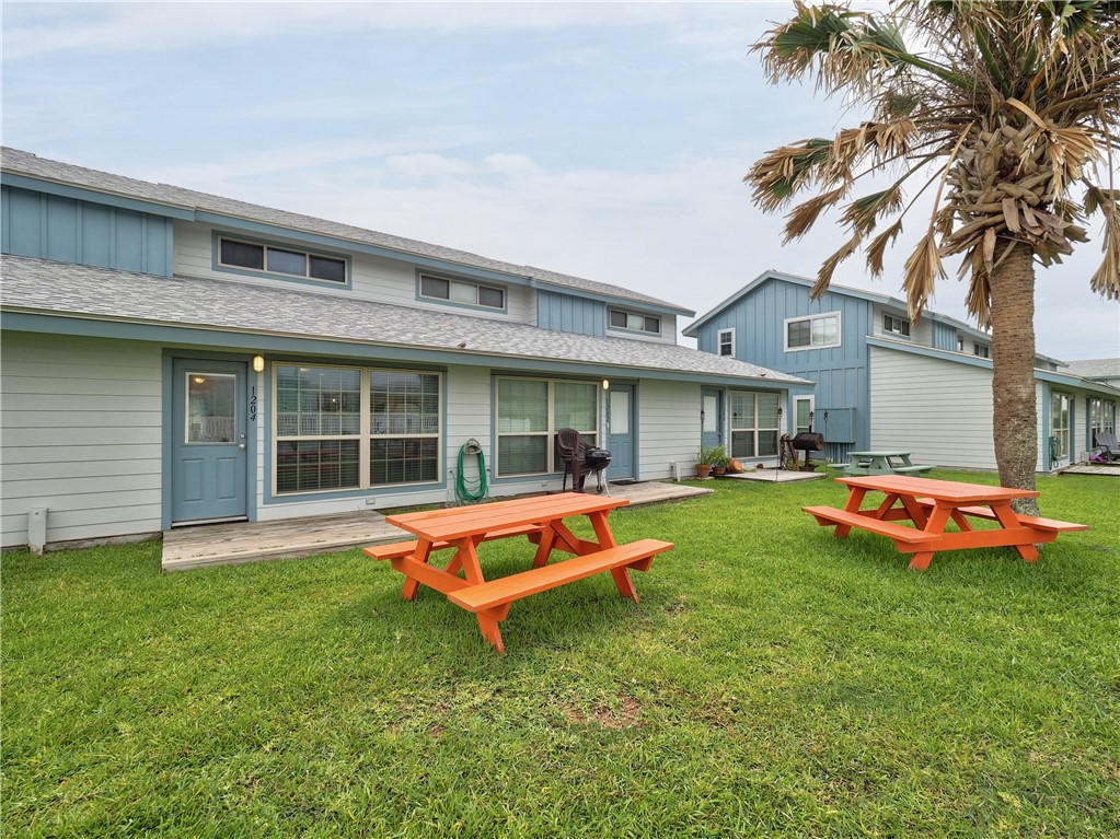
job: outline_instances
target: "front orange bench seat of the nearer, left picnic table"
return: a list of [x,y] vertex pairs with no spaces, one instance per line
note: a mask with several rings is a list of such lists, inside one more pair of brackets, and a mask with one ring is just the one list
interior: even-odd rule
[[469,612],[480,612],[613,568],[627,566],[636,571],[646,571],[654,556],[672,548],[671,541],[638,539],[594,554],[523,571],[508,577],[492,579],[488,583],[479,583],[452,592],[447,598]]

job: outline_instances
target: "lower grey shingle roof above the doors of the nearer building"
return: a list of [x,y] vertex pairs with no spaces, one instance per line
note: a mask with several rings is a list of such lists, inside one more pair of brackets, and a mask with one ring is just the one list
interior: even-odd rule
[[809,384],[804,379],[675,343],[595,338],[528,323],[432,311],[349,294],[305,292],[202,277],[164,277],[4,256],[6,311],[337,340],[487,358]]

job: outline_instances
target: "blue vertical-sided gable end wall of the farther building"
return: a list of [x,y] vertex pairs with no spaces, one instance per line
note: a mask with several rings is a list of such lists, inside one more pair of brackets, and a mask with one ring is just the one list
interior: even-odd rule
[[[787,319],[828,312],[840,312],[839,347],[785,351]],[[871,318],[871,303],[866,300],[827,292],[810,301],[805,285],[771,279],[704,322],[697,347],[716,352],[719,330],[735,329],[739,360],[815,381],[814,431],[825,434],[828,456],[841,458],[848,449],[866,447],[870,441],[867,336],[872,332]]]

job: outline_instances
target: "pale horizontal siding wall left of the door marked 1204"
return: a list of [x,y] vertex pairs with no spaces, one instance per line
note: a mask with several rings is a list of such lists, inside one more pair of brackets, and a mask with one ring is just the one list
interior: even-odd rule
[[161,355],[152,345],[4,331],[2,544],[160,530]]

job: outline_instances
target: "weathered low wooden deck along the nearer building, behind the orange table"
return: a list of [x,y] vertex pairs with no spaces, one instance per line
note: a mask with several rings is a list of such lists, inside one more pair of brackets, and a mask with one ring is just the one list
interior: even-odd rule
[[[610,494],[632,507],[711,494],[712,490],[647,481],[612,484]],[[379,512],[360,511],[283,521],[237,521],[228,525],[177,527],[164,532],[165,572],[212,565],[312,556],[409,538]]]

